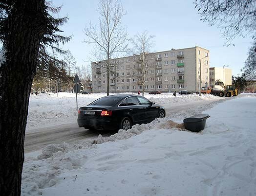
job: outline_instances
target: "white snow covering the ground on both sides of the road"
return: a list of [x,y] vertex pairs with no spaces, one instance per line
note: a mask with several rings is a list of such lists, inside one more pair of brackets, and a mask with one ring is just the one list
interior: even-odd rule
[[[101,96],[105,94],[80,95],[79,106]],[[97,140],[75,145],[48,145],[25,155],[22,195],[256,195],[256,94],[228,99],[212,95],[146,97],[162,105],[223,101],[210,109],[198,108],[198,113],[205,110],[203,113],[211,115],[200,133],[169,126],[170,120],[181,123],[190,114],[180,111],[181,115],[134,125],[107,138],[99,135]],[[76,119],[74,100],[75,94],[69,93],[31,96],[28,127]]]

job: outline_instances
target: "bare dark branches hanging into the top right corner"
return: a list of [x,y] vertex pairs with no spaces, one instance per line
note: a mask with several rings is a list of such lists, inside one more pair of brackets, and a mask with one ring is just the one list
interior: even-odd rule
[[256,0],[195,0],[201,20],[216,25],[230,43],[236,36],[256,36]]

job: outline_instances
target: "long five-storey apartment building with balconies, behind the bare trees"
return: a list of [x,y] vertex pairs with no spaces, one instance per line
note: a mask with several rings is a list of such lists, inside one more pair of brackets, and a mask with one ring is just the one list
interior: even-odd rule
[[[209,84],[209,50],[195,46],[184,49],[147,53],[145,92],[161,90],[199,91]],[[92,62],[93,92],[107,92],[106,61]],[[201,71],[200,71],[201,68]],[[140,55],[111,59],[109,92],[137,92],[142,90],[142,65]]]

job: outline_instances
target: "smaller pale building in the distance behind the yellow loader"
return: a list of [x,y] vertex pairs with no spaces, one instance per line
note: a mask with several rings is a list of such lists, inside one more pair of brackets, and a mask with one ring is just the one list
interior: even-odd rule
[[210,68],[210,86],[213,88],[215,81],[219,80],[226,85],[232,85],[232,69],[221,67]]

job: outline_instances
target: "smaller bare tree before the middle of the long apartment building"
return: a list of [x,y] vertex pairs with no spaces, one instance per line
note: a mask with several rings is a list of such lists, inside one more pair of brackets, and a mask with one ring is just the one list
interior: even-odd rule
[[141,78],[142,82],[142,95],[144,96],[144,91],[145,91],[145,74],[147,71],[149,71],[149,55],[150,55],[150,50],[152,49],[153,46],[153,37],[148,34],[148,31],[144,31],[142,33],[138,33],[131,39],[131,43],[133,45],[133,51],[134,53],[138,53],[137,55],[137,62],[138,62],[138,68],[139,71],[142,72],[141,76],[140,74],[139,77]]

